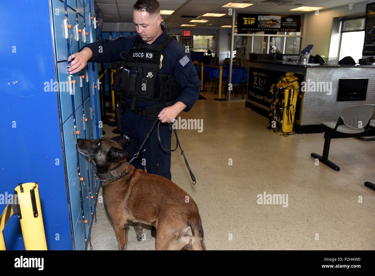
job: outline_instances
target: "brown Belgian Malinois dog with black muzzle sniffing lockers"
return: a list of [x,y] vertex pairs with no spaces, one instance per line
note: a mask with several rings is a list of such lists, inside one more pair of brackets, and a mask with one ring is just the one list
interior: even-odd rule
[[[107,138],[78,139],[77,149],[89,157],[101,178],[104,207],[113,222],[118,250],[126,249],[129,221],[138,241],[141,223],[156,228],[156,250],[205,250],[198,207],[183,189],[160,175],[126,162],[125,142]],[[126,140],[127,142],[127,140]]]

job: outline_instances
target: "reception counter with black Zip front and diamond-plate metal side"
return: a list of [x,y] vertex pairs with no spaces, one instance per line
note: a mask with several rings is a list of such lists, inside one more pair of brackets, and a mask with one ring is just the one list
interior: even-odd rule
[[300,92],[302,97],[296,105],[293,130],[297,133],[323,132],[320,122],[338,120],[345,108],[375,104],[375,66],[304,66],[251,61],[246,107],[268,117],[271,86],[286,72],[294,72],[301,90],[305,90]]

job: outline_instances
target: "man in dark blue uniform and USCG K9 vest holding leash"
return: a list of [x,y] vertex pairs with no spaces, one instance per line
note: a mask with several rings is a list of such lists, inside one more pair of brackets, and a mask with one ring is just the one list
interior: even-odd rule
[[[163,147],[171,148],[172,131],[167,123],[171,123],[181,111],[189,111],[199,97],[201,81],[190,56],[177,40],[168,36],[165,27],[160,25],[161,21],[157,0],[138,0],[133,5],[133,23],[137,36],[102,39],[87,44],[68,57],[68,62],[74,58],[69,65],[70,74],[79,72],[87,62],[111,63],[126,60],[127,66],[121,70],[122,78],[117,77],[118,84],[122,81],[121,96],[124,96],[122,98],[127,107],[121,133],[132,139],[126,146],[131,156],[138,151],[151,129],[154,123],[154,120],[150,120],[152,117],[159,118],[162,122],[160,140]],[[155,58],[159,59],[158,68],[155,66]],[[168,77],[161,78],[162,73]],[[160,105],[163,106],[160,108]],[[147,111],[150,114],[145,115]],[[171,154],[160,148],[156,129],[151,132],[144,151],[133,160],[133,165],[140,169],[144,169],[145,165],[147,172],[171,180]],[[151,234],[155,236],[154,227]]]

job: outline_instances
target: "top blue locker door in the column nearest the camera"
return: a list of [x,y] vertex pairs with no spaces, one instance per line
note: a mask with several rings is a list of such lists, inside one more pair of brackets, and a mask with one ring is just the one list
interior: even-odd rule
[[59,0],[52,1],[53,30],[55,35],[56,58],[60,62],[68,59],[68,33],[65,34],[65,7]]

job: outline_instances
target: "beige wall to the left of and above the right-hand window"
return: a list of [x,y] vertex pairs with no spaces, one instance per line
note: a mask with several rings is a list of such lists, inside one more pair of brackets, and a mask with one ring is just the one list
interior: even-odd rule
[[348,5],[345,5],[320,10],[319,15],[315,15],[315,12],[305,13],[301,48],[305,48],[308,44],[314,44],[312,54],[328,57],[333,18],[365,14],[368,3],[369,1],[356,3],[351,10],[348,9]]

